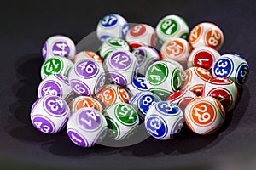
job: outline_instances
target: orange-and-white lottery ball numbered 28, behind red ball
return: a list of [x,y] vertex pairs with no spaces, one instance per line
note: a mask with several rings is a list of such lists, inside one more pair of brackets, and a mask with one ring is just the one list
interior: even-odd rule
[[190,31],[189,42],[193,48],[207,46],[219,50],[224,42],[224,34],[218,26],[203,22]]

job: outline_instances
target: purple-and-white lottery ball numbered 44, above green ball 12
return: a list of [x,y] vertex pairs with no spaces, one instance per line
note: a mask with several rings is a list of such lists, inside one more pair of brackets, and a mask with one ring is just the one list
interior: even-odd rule
[[52,57],[64,56],[68,59],[73,59],[76,54],[76,47],[72,39],[66,36],[52,36],[49,37],[42,48],[44,60]]

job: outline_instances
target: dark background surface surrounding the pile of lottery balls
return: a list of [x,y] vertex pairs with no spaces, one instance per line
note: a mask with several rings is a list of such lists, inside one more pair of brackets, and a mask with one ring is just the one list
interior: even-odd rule
[[[0,169],[255,169],[255,1],[6,1],[0,3]],[[41,48],[55,34],[78,43],[109,13],[129,23],[156,26],[167,14],[187,20],[190,30],[203,21],[224,31],[220,53],[241,54],[250,75],[236,110],[211,135],[184,130],[177,139],[148,138],[124,148],[75,146],[65,132],[38,133],[30,122],[37,99]]]

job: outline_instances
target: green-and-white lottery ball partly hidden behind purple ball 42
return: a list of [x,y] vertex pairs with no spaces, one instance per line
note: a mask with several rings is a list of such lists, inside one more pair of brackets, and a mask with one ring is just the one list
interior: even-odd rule
[[102,60],[104,60],[109,54],[118,50],[130,51],[129,44],[120,38],[109,38],[105,42],[102,42],[98,53],[100,54]]

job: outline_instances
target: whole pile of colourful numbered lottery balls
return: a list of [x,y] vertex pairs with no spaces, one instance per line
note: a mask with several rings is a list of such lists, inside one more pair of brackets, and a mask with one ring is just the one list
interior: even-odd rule
[[39,132],[65,130],[74,144],[91,147],[108,135],[127,139],[143,124],[146,133],[166,140],[183,126],[214,133],[236,108],[249,68],[239,54],[219,54],[224,34],[218,26],[203,22],[189,31],[176,14],[155,28],[129,26],[123,16],[108,14],[96,36],[96,52],[78,52],[62,35],[44,42],[30,115]]

